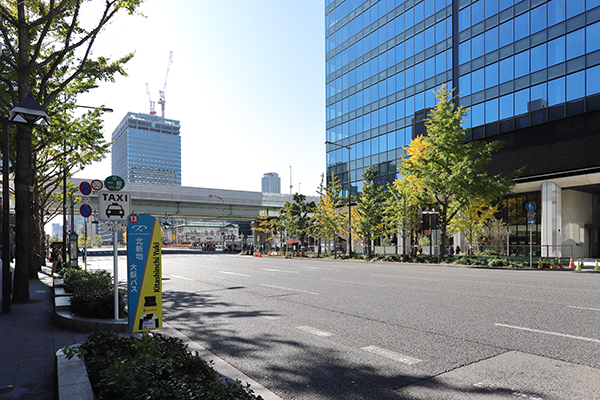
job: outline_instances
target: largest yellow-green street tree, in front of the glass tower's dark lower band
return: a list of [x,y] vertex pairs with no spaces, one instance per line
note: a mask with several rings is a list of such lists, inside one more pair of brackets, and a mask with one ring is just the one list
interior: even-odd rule
[[435,96],[437,104],[425,122],[427,135],[408,146],[409,156],[403,157],[402,173],[419,180],[430,204],[439,210],[443,259],[448,225],[459,211],[473,198],[490,201],[509,193],[514,183],[512,176],[491,176],[485,170],[501,142],[465,143],[462,124],[467,110],[455,106],[445,85],[435,91]]

